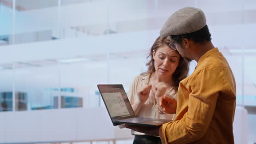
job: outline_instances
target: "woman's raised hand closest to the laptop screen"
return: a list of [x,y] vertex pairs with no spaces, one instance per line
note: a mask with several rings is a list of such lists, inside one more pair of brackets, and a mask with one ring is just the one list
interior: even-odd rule
[[152,87],[151,85],[146,85],[138,88],[137,94],[138,94],[139,103],[144,104],[147,101],[151,87]]

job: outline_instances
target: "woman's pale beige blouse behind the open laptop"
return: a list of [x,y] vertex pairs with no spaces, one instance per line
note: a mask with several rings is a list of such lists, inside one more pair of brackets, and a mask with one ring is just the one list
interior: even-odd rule
[[[130,100],[131,105],[133,105],[135,101],[138,100],[137,88],[148,85],[148,84],[149,84],[149,75],[138,75],[135,77],[128,93],[128,98]],[[174,91],[173,88],[167,89],[165,95],[167,95],[168,97],[173,97],[177,99],[177,93]],[[160,115],[160,113],[158,113],[157,106],[158,105],[156,104],[154,94],[151,89],[149,93],[149,98],[139,110],[137,117],[160,118],[160,119],[170,119],[170,120],[174,119],[175,114]],[[139,133],[134,130],[131,131],[131,134],[145,135],[143,133]]]

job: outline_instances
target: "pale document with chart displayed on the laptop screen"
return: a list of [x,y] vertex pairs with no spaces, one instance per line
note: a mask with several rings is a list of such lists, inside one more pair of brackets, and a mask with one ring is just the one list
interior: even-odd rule
[[111,117],[130,115],[120,92],[102,93]]

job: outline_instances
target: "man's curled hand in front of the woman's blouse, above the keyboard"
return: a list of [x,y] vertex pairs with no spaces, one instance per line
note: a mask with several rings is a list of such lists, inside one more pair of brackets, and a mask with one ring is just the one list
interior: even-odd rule
[[177,101],[174,98],[169,97],[161,97],[160,98],[160,104],[158,105],[158,112],[161,115],[164,115],[166,113],[174,114],[176,113],[177,108]]

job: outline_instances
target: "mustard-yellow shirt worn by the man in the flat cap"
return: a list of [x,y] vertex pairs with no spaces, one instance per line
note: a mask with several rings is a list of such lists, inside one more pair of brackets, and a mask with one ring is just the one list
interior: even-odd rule
[[159,129],[163,143],[234,143],[235,78],[217,48],[179,83],[176,118]]

